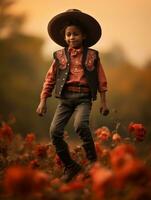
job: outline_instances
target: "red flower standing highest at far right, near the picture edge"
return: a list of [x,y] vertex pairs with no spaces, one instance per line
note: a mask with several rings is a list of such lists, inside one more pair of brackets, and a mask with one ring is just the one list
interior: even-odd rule
[[143,124],[130,123],[128,126],[130,133],[133,133],[137,141],[143,141],[146,135],[146,129]]

